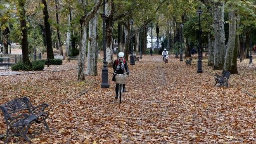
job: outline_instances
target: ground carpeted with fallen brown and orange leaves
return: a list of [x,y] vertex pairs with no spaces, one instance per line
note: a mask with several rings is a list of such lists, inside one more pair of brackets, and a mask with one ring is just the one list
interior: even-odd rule
[[[173,56],[164,64],[159,55],[143,55],[134,66],[128,61],[121,104],[114,99],[112,68],[110,88],[101,88],[101,59],[99,75],[84,81],[76,80],[76,69],[0,76],[0,104],[27,96],[33,105],[50,105],[50,132],[33,124],[28,136],[34,144],[255,143],[256,60],[237,63],[239,75],[230,76],[229,87],[218,87],[214,74],[222,71],[207,66],[207,59],[198,74],[197,57],[186,66]],[[77,62],[64,66],[72,69]],[[39,134],[32,135],[35,131]],[[6,132],[2,113],[0,132]],[[10,142],[26,141],[12,137]]]

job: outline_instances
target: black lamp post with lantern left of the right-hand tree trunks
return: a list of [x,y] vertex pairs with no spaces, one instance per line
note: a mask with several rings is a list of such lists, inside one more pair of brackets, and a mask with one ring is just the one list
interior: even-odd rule
[[197,73],[203,73],[202,71],[202,52],[201,52],[201,7],[197,10],[197,14],[199,14],[199,32],[198,32],[198,61],[197,61]]

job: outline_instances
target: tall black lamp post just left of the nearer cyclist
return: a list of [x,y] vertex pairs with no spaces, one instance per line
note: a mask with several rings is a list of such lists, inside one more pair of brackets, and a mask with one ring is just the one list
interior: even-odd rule
[[103,19],[103,68],[102,68],[102,84],[101,88],[109,88],[109,69],[107,68],[106,61],[106,15],[105,15],[105,0],[103,0],[103,13],[101,14]]

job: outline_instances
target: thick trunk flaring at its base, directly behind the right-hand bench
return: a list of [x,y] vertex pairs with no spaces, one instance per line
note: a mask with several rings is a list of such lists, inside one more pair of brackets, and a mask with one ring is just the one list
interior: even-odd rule
[[237,71],[237,16],[235,10],[229,12],[229,34],[228,34],[228,47],[225,56],[223,71],[230,71],[230,73],[238,73]]

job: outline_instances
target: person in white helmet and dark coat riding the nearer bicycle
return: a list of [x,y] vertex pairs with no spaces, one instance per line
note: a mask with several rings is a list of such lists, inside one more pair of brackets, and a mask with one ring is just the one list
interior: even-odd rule
[[[123,74],[126,71],[127,75],[129,75],[129,68],[128,68],[127,62],[126,62],[125,59],[123,59],[124,53],[119,52],[118,57],[119,58],[116,59],[114,61],[114,64],[113,64],[114,73]],[[113,76],[112,80],[116,81],[115,75]],[[126,92],[126,89],[124,87],[125,87],[125,84],[123,84],[123,92]],[[118,99],[118,91],[119,91],[118,88],[119,88],[118,84],[116,84],[116,97],[115,97],[115,99]]]

